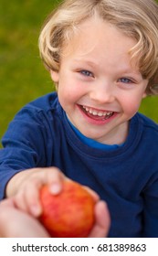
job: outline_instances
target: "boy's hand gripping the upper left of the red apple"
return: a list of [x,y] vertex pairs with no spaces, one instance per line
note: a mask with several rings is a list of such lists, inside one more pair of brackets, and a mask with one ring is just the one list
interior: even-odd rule
[[8,197],[14,196],[16,207],[38,217],[42,208],[39,201],[39,189],[48,184],[50,192],[58,194],[62,189],[62,180],[66,178],[56,167],[33,168],[21,172],[12,178],[11,187],[14,193],[8,193]]

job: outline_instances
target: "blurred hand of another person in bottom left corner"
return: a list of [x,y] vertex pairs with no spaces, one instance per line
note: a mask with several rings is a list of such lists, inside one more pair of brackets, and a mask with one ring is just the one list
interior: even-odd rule
[[14,198],[0,202],[0,238],[48,238],[40,222],[15,206]]

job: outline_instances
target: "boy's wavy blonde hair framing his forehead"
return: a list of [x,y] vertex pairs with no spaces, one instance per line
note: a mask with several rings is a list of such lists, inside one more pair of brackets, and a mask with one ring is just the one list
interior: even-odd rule
[[136,39],[130,49],[148,94],[158,94],[158,5],[153,0],[65,0],[42,27],[39,51],[47,69],[59,70],[62,48],[68,45],[79,24],[99,16]]

